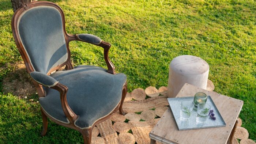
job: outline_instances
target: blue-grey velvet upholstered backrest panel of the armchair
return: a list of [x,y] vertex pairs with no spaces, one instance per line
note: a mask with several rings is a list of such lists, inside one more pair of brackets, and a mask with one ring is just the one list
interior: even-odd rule
[[23,13],[18,32],[35,71],[47,73],[68,58],[59,10],[38,6]]

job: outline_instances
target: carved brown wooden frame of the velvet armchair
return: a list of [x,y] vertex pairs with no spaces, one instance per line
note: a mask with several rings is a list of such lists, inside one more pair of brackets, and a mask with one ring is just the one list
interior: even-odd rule
[[[66,70],[73,69],[73,66],[72,66],[72,63],[71,63],[71,60],[70,60],[69,42],[70,41],[74,41],[74,40],[76,40],[76,41],[81,41],[81,40],[78,38],[77,34],[72,35],[72,34],[68,34],[67,33],[67,31],[65,30],[64,13],[63,13],[61,8],[57,4],[49,2],[49,1],[35,1],[35,2],[28,3],[28,4],[26,3],[26,4],[24,4],[24,7],[19,8],[14,13],[14,15],[12,17],[12,23],[11,23],[12,33],[13,33],[13,36],[14,36],[14,40],[15,40],[16,45],[18,47],[18,50],[19,50],[19,52],[20,52],[20,54],[22,56],[22,59],[25,62],[26,70],[29,73],[34,71],[33,66],[32,66],[32,64],[31,64],[31,62],[29,60],[29,57],[27,56],[27,53],[25,51],[25,48],[22,45],[22,41],[21,41],[21,39],[19,38],[19,35],[18,35],[18,27],[17,27],[18,19],[19,19],[20,15],[23,12],[25,12],[26,10],[28,10],[30,8],[33,8],[33,7],[41,6],[41,5],[55,7],[55,8],[57,8],[57,10],[60,11],[60,14],[61,14],[61,17],[62,17],[62,23],[63,23],[64,36],[65,36],[65,41],[66,41],[66,46],[67,46],[67,53],[68,53],[67,61],[65,61],[63,64],[58,65],[57,67],[54,67],[54,68],[50,69],[49,72],[47,73],[47,75],[50,75],[50,73],[55,71],[55,70],[56,71],[59,70],[63,66],[66,66],[65,67]],[[109,49],[111,47],[110,43],[102,41],[101,43],[97,44],[97,46],[100,46],[100,47],[102,47],[104,49],[104,59],[105,59],[105,62],[107,64],[107,67],[108,67],[108,73],[116,74],[115,67],[114,67],[113,63],[110,61],[110,59],[108,57]],[[37,89],[38,96],[39,97],[44,97],[45,96],[45,92],[42,89],[42,85],[37,83],[37,82],[35,82],[34,80],[32,80],[32,82],[34,83],[34,85],[35,85],[35,87]],[[125,82],[125,84],[123,85],[123,88],[122,88],[122,98],[121,98],[121,101],[118,103],[116,108],[110,114],[108,114],[105,117],[95,121],[94,124],[91,127],[87,128],[87,129],[81,129],[81,128],[78,128],[77,126],[75,126],[74,122],[77,120],[78,115],[76,115],[72,111],[72,109],[69,107],[69,105],[68,105],[67,98],[66,98],[68,87],[64,86],[61,83],[58,83],[58,84],[56,84],[55,86],[53,86],[51,88],[53,88],[53,89],[55,89],[55,90],[60,92],[61,105],[62,105],[62,108],[63,108],[65,116],[69,120],[69,124],[62,123],[60,121],[55,120],[53,117],[48,115],[46,113],[46,111],[41,107],[41,114],[42,114],[42,121],[43,121],[43,130],[41,132],[42,136],[44,136],[46,134],[46,132],[47,132],[47,127],[48,127],[47,117],[49,117],[50,120],[56,122],[59,125],[66,126],[68,128],[72,128],[72,129],[78,130],[83,135],[84,143],[85,144],[90,144],[90,142],[91,142],[91,132],[92,132],[92,130],[93,130],[95,125],[97,125],[98,123],[100,123],[102,121],[105,121],[108,118],[110,118],[118,109],[119,109],[120,114],[123,114],[123,115],[125,114],[123,112],[122,105],[123,105],[123,102],[124,102],[124,98],[125,98],[125,96],[127,94],[127,83],[126,82]]]

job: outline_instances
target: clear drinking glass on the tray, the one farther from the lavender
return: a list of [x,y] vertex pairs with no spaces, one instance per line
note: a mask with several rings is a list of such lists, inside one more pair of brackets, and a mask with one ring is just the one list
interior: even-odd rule
[[180,110],[180,120],[187,121],[191,116],[193,110],[194,103],[189,100],[184,100],[181,102],[181,110]]

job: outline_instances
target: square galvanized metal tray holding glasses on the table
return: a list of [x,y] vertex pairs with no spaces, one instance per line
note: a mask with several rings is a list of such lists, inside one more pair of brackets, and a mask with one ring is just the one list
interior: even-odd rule
[[213,128],[213,127],[221,127],[226,126],[225,121],[223,120],[221,114],[219,113],[217,107],[215,106],[214,102],[211,99],[211,96],[207,97],[206,103],[211,106],[211,110],[214,110],[214,114],[216,120],[212,120],[210,117],[207,118],[206,123],[204,125],[196,124],[196,115],[197,111],[193,110],[191,117],[188,121],[181,121],[180,120],[180,110],[181,110],[181,101],[184,100],[194,100],[194,96],[192,97],[182,97],[182,98],[167,98],[170,108],[172,110],[174,119],[178,126],[178,130],[188,130],[188,129],[203,129],[203,128]]

